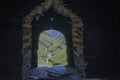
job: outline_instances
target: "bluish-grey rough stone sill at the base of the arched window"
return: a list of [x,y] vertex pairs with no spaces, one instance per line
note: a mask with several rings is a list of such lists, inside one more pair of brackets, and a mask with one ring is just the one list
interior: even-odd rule
[[28,80],[82,80],[80,72],[74,67],[57,65],[38,67],[29,71]]

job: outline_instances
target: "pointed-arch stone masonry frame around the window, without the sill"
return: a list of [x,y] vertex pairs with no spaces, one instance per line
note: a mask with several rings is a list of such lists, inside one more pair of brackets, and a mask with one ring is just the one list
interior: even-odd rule
[[[56,14],[69,19],[69,23],[65,24],[62,28],[57,27],[43,27],[39,29],[34,28],[34,18],[36,15],[42,15],[53,10]],[[67,22],[67,21],[66,21]],[[62,23],[61,23],[62,24]],[[58,24],[59,25],[59,24]],[[37,67],[37,45],[39,33],[44,30],[53,28],[62,32],[65,35],[67,42],[67,60],[68,65],[75,66],[85,76],[85,62],[83,57],[83,22],[80,17],[75,15],[70,9],[66,8],[60,0],[45,0],[40,6],[36,6],[31,10],[28,15],[23,19],[23,37],[22,37],[22,79],[27,77],[27,72]],[[61,27],[61,28],[60,28]],[[69,37],[70,36],[70,37]]]

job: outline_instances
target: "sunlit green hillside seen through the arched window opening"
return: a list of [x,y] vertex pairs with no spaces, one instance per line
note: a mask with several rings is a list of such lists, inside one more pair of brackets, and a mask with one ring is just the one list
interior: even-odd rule
[[46,32],[40,34],[38,65],[64,65],[67,64],[66,57],[66,43],[64,38],[58,40],[50,37]]

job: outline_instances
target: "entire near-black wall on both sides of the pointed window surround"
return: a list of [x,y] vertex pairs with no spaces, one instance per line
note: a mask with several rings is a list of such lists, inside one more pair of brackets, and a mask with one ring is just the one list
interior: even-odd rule
[[[0,80],[21,80],[21,20],[37,2],[40,1],[0,2]],[[85,24],[84,57],[88,63],[87,77],[119,78],[118,2],[65,0],[65,3],[82,17]]]

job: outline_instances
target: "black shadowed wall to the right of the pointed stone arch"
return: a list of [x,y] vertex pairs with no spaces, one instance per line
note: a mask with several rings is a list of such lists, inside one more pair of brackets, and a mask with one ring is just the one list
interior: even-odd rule
[[117,4],[103,0],[88,3],[91,5],[84,6],[87,8],[80,11],[85,24],[87,76],[119,78],[120,25]]

